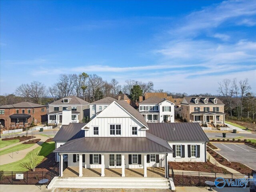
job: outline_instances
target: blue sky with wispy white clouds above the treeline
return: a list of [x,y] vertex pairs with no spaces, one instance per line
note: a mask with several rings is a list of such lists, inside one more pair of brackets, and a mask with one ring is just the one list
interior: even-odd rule
[[1,95],[81,72],[188,94],[248,78],[256,92],[256,1],[0,2]]

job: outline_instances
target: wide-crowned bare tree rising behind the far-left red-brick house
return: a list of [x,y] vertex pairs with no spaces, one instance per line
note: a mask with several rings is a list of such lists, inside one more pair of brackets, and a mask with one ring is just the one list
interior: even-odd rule
[[44,84],[33,81],[30,84],[22,84],[16,89],[16,93],[25,98],[31,98],[33,102],[39,103],[39,99],[44,96],[46,88]]

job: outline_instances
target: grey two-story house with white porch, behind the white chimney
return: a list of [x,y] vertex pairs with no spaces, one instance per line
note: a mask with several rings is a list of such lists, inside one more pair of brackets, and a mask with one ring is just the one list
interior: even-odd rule
[[50,125],[82,122],[89,116],[89,103],[76,96],[66,96],[50,103],[47,115]]

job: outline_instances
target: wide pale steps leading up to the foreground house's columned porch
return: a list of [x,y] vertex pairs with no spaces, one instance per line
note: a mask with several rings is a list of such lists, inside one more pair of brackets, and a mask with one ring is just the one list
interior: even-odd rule
[[50,188],[137,188],[137,189],[169,189],[170,182],[166,178],[113,178],[113,177],[73,177],[56,178],[48,185]]

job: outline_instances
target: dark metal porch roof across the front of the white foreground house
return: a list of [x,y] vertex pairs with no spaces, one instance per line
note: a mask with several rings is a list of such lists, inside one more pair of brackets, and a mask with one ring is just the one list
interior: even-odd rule
[[[151,152],[172,153],[166,141],[149,137],[84,137],[66,142],[53,152]],[[159,141],[159,139],[161,141]]]

